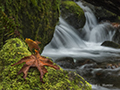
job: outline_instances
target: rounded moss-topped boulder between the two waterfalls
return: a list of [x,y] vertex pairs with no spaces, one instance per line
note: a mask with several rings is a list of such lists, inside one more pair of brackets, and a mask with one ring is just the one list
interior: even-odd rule
[[74,1],[62,1],[61,16],[76,29],[85,25],[84,11]]

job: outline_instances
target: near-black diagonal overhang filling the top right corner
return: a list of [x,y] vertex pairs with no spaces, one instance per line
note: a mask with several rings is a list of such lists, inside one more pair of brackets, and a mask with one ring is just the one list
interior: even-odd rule
[[84,0],[96,6],[102,6],[105,9],[120,16],[120,0]]

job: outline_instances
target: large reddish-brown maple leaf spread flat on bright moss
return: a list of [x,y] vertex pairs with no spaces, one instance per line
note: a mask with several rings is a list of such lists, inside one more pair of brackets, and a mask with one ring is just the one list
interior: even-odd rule
[[33,54],[31,56],[24,57],[20,61],[18,61],[17,63],[15,63],[11,66],[21,64],[23,62],[25,62],[25,64],[21,68],[21,70],[18,72],[18,75],[23,72],[24,73],[24,75],[23,75],[24,79],[26,78],[27,72],[28,72],[30,67],[37,67],[37,69],[40,72],[40,81],[41,82],[43,82],[42,78],[43,78],[44,74],[48,72],[47,69],[44,66],[50,66],[50,67],[53,67],[56,70],[60,69],[57,65],[53,65],[53,62],[50,59],[41,56],[39,54],[39,51],[37,51],[37,50],[35,50],[35,54]]

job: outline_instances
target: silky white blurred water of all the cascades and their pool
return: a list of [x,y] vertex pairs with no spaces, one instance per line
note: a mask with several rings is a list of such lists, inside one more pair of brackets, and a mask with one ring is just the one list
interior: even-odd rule
[[[101,46],[104,41],[112,40],[115,33],[114,28],[107,22],[98,24],[97,19],[90,8],[83,6],[81,2],[77,2],[77,4],[85,12],[85,26],[81,31],[76,30],[60,17],[59,24],[55,27],[54,36],[51,42],[44,48],[42,55],[52,58],[54,62],[56,59],[62,57],[72,57],[74,58],[74,61],[89,58],[93,59],[96,63],[109,61],[116,62],[117,59],[111,58],[119,58],[120,49]],[[89,69],[90,68],[87,68],[85,70],[84,66],[78,68],[80,73],[83,73],[83,70],[87,72]],[[95,73],[95,71],[96,69],[92,68],[91,73]],[[114,69],[112,69],[111,72],[112,71],[114,71]],[[93,90],[112,89],[95,86],[94,84]]]

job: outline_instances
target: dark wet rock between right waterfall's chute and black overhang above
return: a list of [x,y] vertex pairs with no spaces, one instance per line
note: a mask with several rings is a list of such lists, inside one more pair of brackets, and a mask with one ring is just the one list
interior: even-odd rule
[[96,18],[98,19],[98,22],[106,20],[110,22],[120,21],[117,14],[105,9],[104,7],[95,6],[91,3],[86,2],[85,0],[82,0],[81,2],[83,3],[84,6],[88,6],[93,11]]

